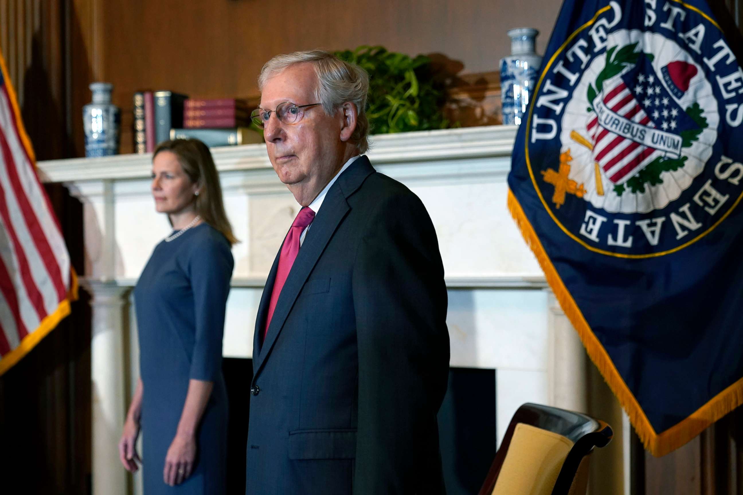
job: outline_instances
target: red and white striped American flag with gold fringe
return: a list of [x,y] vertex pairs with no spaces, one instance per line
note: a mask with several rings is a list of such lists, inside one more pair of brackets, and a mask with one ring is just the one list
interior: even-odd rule
[[77,278],[0,55],[0,375],[70,312]]

